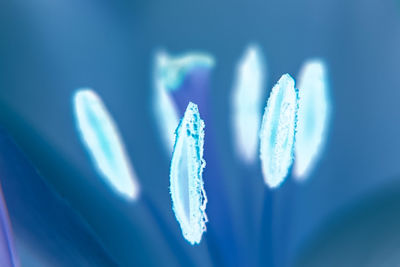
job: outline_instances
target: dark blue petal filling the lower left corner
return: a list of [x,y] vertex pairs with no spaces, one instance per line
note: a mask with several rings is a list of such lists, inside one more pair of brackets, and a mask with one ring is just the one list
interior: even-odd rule
[[0,152],[1,183],[22,266],[116,266],[82,217],[1,129]]

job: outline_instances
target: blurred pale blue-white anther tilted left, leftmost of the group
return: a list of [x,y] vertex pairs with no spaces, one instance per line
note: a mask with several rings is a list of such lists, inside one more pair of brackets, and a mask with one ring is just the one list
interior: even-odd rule
[[81,140],[101,177],[120,195],[137,199],[139,185],[118,129],[100,97],[90,89],[73,98]]

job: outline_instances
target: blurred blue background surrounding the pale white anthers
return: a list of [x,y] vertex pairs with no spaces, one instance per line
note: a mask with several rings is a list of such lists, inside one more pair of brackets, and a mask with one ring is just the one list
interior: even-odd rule
[[[93,261],[85,264],[79,257],[49,256],[46,247],[23,252],[25,242],[18,240],[41,224],[17,222],[20,217],[8,205],[22,266],[400,262],[399,1],[7,0],[0,3],[0,31],[0,125],[27,158],[27,167],[18,168],[36,169],[101,247],[95,250],[101,252],[88,252]],[[288,177],[274,192],[264,185],[259,162],[244,165],[233,148],[229,99],[237,62],[250,43],[258,44],[265,57],[265,101],[282,74],[296,77],[309,58],[322,58],[329,70],[332,119],[323,156],[305,183]],[[214,227],[211,216],[199,246],[182,238],[171,210],[170,158],[151,109],[158,49],[204,51],[216,61],[206,135],[212,129],[219,175],[207,177],[212,170],[206,170],[204,182],[212,191],[207,179],[219,179],[226,203],[218,205],[231,215]],[[145,200],[121,200],[95,172],[72,112],[73,93],[81,87],[93,88],[118,124]],[[0,154],[2,162],[10,160],[7,151]],[[6,203],[20,197],[7,193],[3,179],[11,178],[0,177]],[[249,194],[254,198],[241,202]],[[211,197],[208,207],[213,205]],[[30,210],[29,203],[22,207]],[[253,229],[246,214],[261,225],[268,221],[268,233],[246,238]],[[51,212],[46,216],[49,223],[42,227],[48,229]],[[233,235],[235,245],[229,246],[218,231],[232,221],[235,226],[226,235]],[[16,224],[26,229],[19,231]],[[66,233],[67,241],[55,235],[49,247],[62,254],[81,242]],[[257,243],[257,253],[249,251],[251,243]],[[41,259],[27,258],[35,253]],[[102,253],[110,260],[99,261]]]

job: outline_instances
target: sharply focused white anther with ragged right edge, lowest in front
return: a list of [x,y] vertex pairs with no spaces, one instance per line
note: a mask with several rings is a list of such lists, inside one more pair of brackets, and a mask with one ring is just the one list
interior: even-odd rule
[[175,135],[170,169],[172,207],[184,238],[194,245],[200,243],[207,222],[202,177],[204,122],[197,105],[189,103]]

